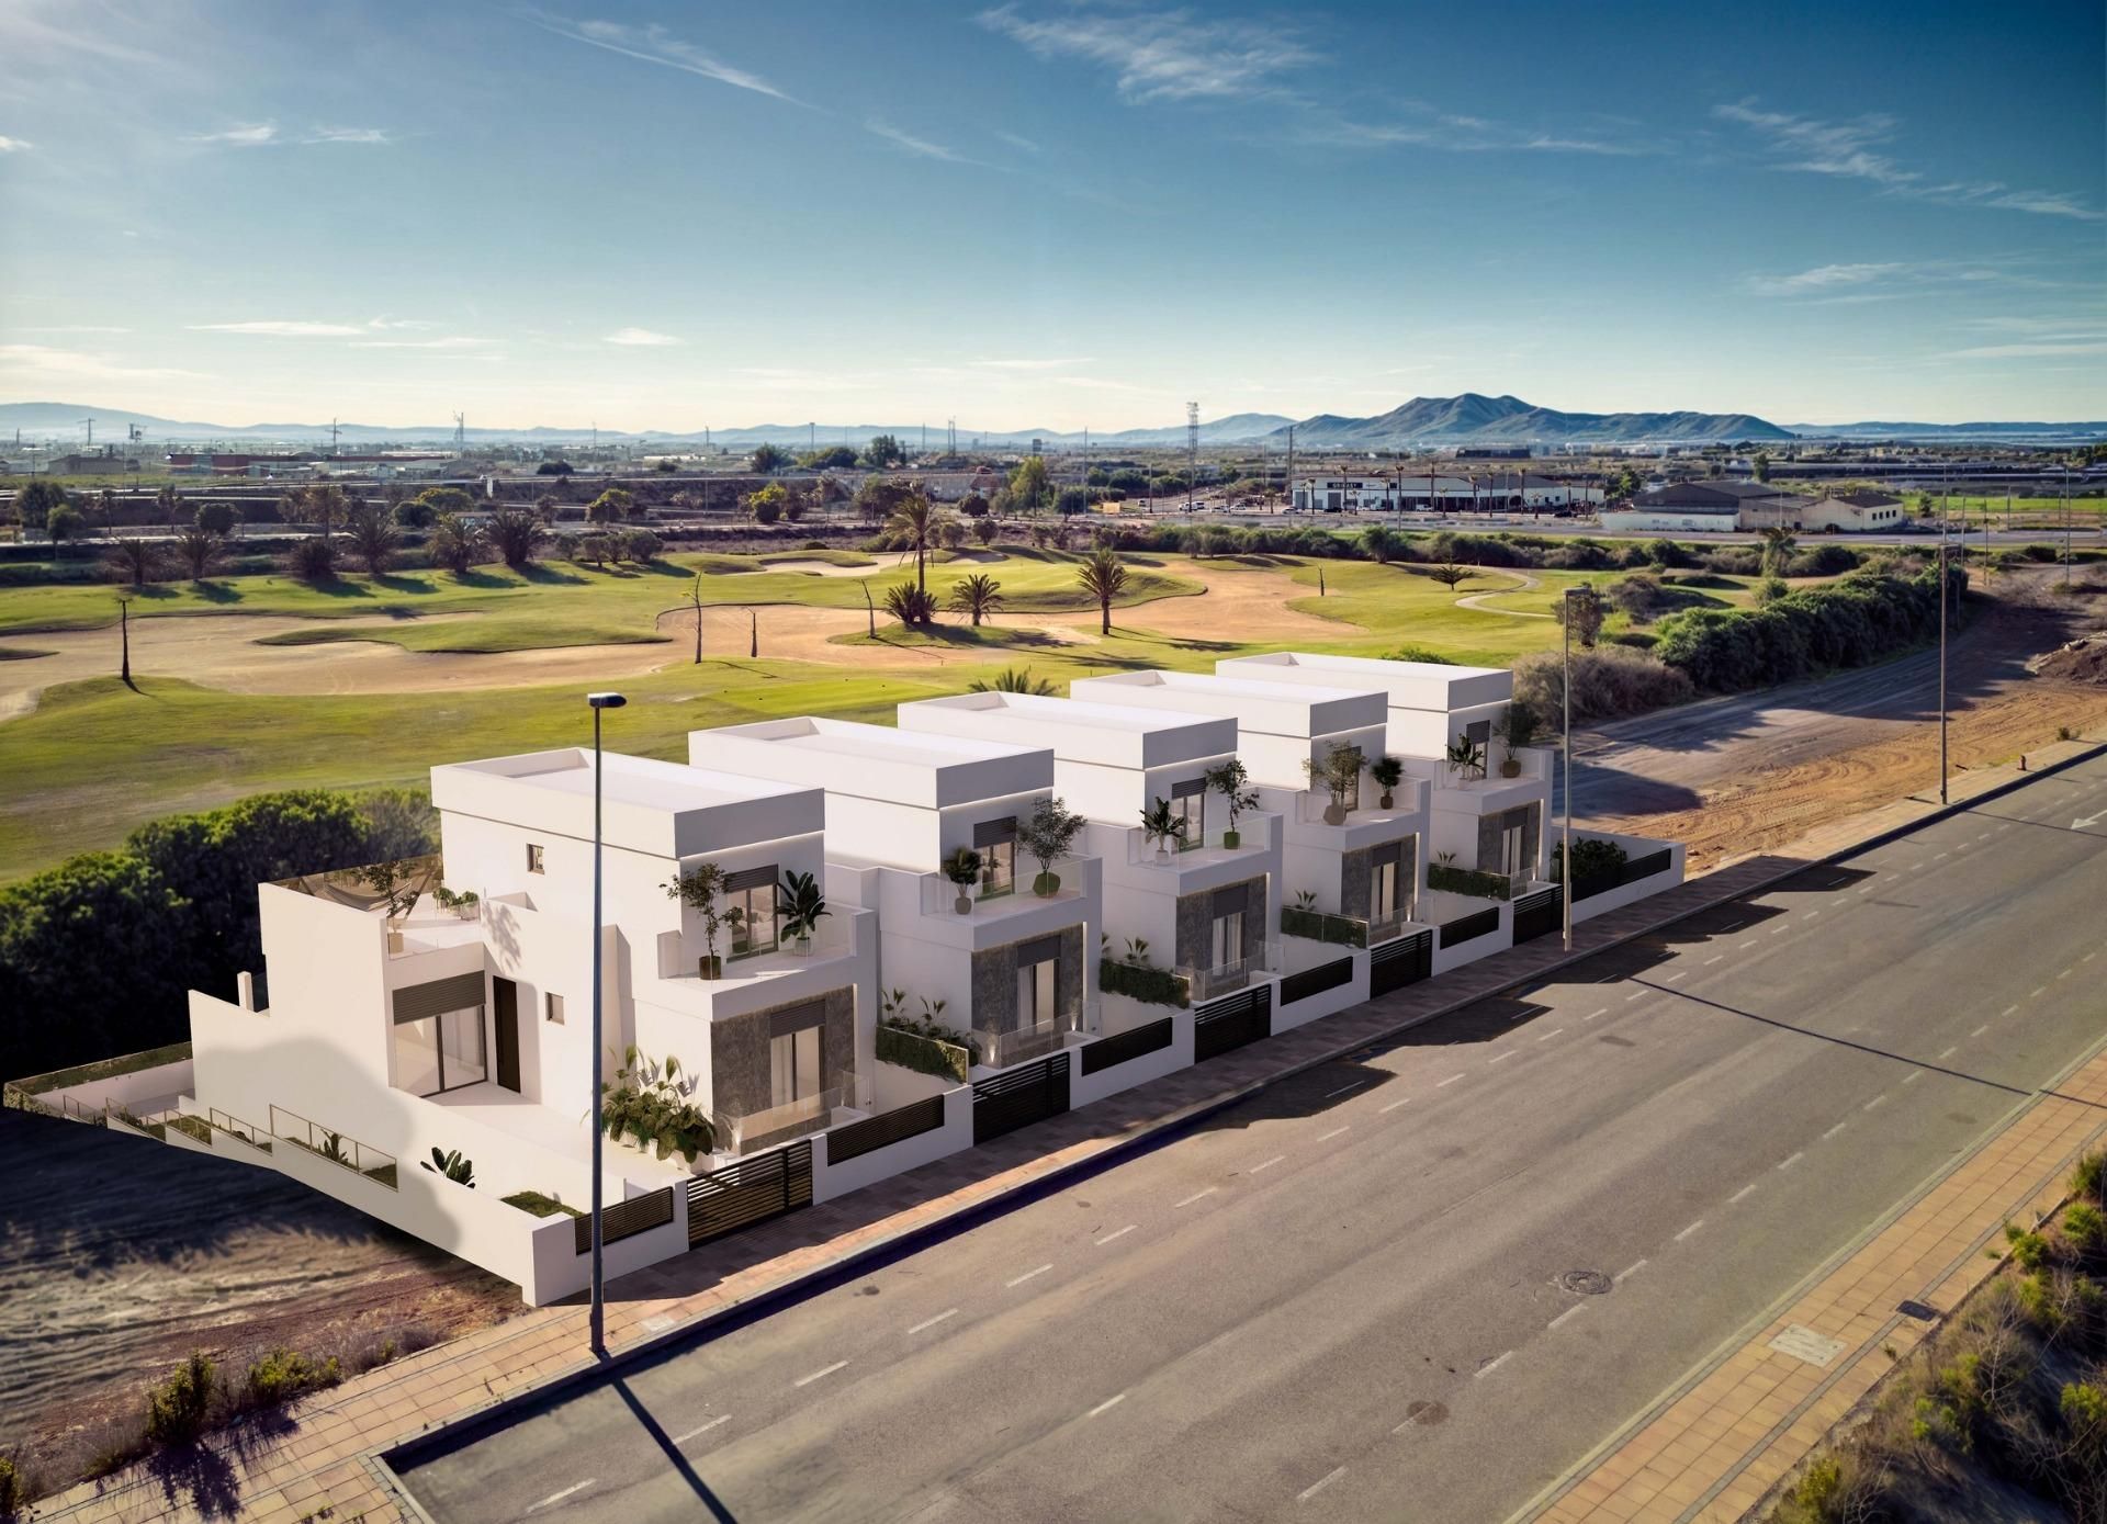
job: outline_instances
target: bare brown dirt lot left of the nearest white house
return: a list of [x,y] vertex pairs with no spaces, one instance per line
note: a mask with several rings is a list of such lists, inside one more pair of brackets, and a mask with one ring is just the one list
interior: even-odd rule
[[282,1174],[0,1113],[0,1444],[32,1469],[91,1459],[192,1349],[247,1370],[518,1311],[518,1288]]

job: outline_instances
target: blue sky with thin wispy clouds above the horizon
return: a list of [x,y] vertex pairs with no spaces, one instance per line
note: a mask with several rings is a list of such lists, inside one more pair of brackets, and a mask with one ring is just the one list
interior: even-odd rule
[[2107,415],[2094,2],[0,4],[0,400]]

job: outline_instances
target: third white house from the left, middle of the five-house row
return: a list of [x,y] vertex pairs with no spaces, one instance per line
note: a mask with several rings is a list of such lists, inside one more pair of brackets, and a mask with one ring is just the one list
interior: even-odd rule
[[[1237,723],[1032,693],[959,693],[902,704],[900,729],[1045,746],[1054,786],[1089,824],[1104,873],[1104,946],[1123,965],[1171,970],[1199,1005],[1275,982],[1271,927],[1281,906],[1281,831],[1262,809],[1228,822],[1209,774],[1237,755]],[[1150,835],[1163,809],[1178,835]],[[1106,991],[1102,1027],[1119,1033],[1161,1012]]]

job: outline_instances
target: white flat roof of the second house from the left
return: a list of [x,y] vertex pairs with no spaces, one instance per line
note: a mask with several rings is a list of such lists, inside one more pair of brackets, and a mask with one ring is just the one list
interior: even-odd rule
[[855,799],[923,807],[1001,799],[1054,786],[1054,753],[978,736],[940,736],[849,719],[765,719],[695,729],[689,759],[796,780]]

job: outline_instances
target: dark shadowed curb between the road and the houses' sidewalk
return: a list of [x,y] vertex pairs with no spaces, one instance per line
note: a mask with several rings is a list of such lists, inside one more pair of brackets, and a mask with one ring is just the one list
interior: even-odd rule
[[[1471,995],[1458,995],[1456,999],[1452,999],[1452,1001],[1448,1001],[1443,1005],[1437,1005],[1435,1010],[1429,1010],[1429,1012],[1424,1012],[1420,1016],[1414,1016],[1410,1020],[1397,1022],[1395,1027],[1384,1027],[1378,1033],[1370,1033],[1365,1037],[1357,1037],[1351,1043],[1342,1043],[1342,1046],[1338,1046],[1334,1050],[1327,1050],[1327,1052],[1317,1054],[1313,1058],[1300,1060],[1300,1062],[1296,1062],[1296,1064],[1292,1064],[1287,1069],[1275,1071],[1275,1073],[1271,1073],[1271,1075],[1266,1075],[1262,1079],[1247,1081],[1247,1083],[1243,1083],[1243,1086],[1239,1086],[1235,1090],[1220,1092],[1220,1094],[1209,1096],[1205,1100],[1195,1100],[1195,1102],[1190,1102],[1188,1107],[1184,1107],[1180,1111],[1174,1111],[1169,1115],[1155,1117],[1153,1121],[1142,1124],[1136,1132],[1129,1132],[1127,1136],[1117,1138],[1115,1142],[1106,1145],[1098,1153],[1091,1153],[1089,1157],[1070,1159],[1066,1164],[1054,1166],[1047,1172],[1043,1172],[1043,1174],[1039,1174],[1035,1178],[1028,1178],[1028,1180],[1020,1180],[1020,1183],[1016,1183],[1016,1185],[1011,1185],[1011,1187],[1007,1187],[1007,1189],[1003,1189],[1003,1191],[999,1191],[999,1193],[995,1193],[995,1195],[990,1195],[990,1197],[986,1197],[982,1201],[973,1201],[969,1206],[961,1206],[961,1208],[957,1208],[952,1212],[946,1212],[946,1214],[942,1214],[942,1216],[938,1216],[938,1218],[933,1218],[929,1223],[917,1223],[914,1227],[906,1227],[906,1229],[900,1229],[900,1231],[889,1233],[885,1237],[879,1237],[879,1239],[872,1239],[868,1244],[862,1244],[862,1246],[858,1246],[853,1250],[845,1250],[843,1254],[836,1254],[836,1256],[828,1258],[822,1265],[813,1265],[811,1269],[801,1271],[799,1275],[794,1275],[790,1279],[777,1282],[775,1286],[761,1288],[761,1290],[756,1290],[756,1292],[752,1292],[752,1294],[748,1294],[748,1296],[744,1296],[744,1298],[740,1298],[735,1303],[729,1303],[725,1307],[716,1307],[716,1309],[712,1309],[708,1313],[697,1313],[695,1317],[689,1317],[687,1322],[683,1322],[683,1324],[678,1324],[674,1328],[657,1330],[657,1332],[653,1332],[653,1334],[649,1334],[649,1336],[645,1336],[645,1339],[641,1339],[641,1341],[636,1341],[632,1345],[626,1345],[619,1351],[613,1351],[605,1362],[579,1360],[577,1366],[573,1366],[569,1370],[560,1370],[560,1372],[548,1376],[546,1381],[535,1383],[533,1387],[527,1387],[523,1391],[506,1393],[504,1398],[493,1398],[491,1402],[483,1404],[480,1408],[472,1408],[472,1410],[468,1410],[464,1414],[447,1419],[440,1425],[428,1427],[428,1429],[424,1429],[424,1431],[419,1431],[415,1435],[396,1440],[392,1444],[375,1446],[373,1450],[367,1450],[365,1454],[375,1463],[377,1471],[386,1480],[388,1492],[413,1518],[417,1518],[417,1520],[421,1520],[421,1522],[428,1524],[430,1516],[415,1503],[415,1499],[411,1497],[407,1484],[402,1482],[402,1476],[400,1476],[400,1469],[398,1469],[402,1463],[419,1463],[426,1457],[442,1454],[447,1450],[459,1448],[464,1442],[472,1442],[472,1440],[483,1438],[483,1435],[487,1435],[487,1433],[491,1433],[495,1429],[506,1427],[506,1421],[514,1412],[520,1412],[520,1410],[527,1410],[527,1408],[533,1408],[533,1406],[550,1406],[554,1402],[560,1402],[563,1398],[571,1395],[573,1391],[582,1391],[582,1389],[590,1387],[596,1381],[603,1381],[607,1376],[615,1376],[615,1374],[624,1372],[626,1368],[632,1368],[632,1366],[636,1366],[636,1364],[641,1364],[645,1360],[651,1360],[651,1357],[657,1357],[657,1355],[670,1351],[676,1345],[702,1343],[702,1341],[706,1341],[708,1336],[712,1336],[716,1332],[729,1332],[731,1328],[742,1326],[746,1322],[754,1322],[754,1320],[759,1320],[759,1317],[763,1317],[763,1315],[767,1315],[767,1313],[771,1313],[771,1311],[775,1311],[775,1309],[780,1309],[784,1305],[803,1301],[809,1294],[813,1294],[815,1290],[822,1290],[828,1282],[847,1279],[853,1273],[860,1273],[864,1267],[868,1267],[868,1265],[872,1265],[877,1261],[900,1258],[900,1256],[910,1254],[910,1252],[914,1252],[914,1250],[919,1250],[919,1248],[923,1248],[923,1246],[927,1246],[931,1242],[938,1242],[942,1237],[950,1237],[950,1235],[954,1235],[961,1229],[969,1229],[969,1227],[973,1227],[973,1225],[978,1225],[982,1220],[988,1220],[992,1216],[1011,1212],[1018,1206],[1026,1206],[1032,1199],[1049,1195],[1056,1189],[1064,1189],[1066,1185],[1070,1185],[1070,1183],[1075,1183],[1079,1178],[1087,1178],[1087,1176],[1098,1174],[1098,1172],[1102,1172],[1106,1168],[1123,1164],[1123,1161],[1127,1161],[1127,1159],[1131,1159],[1131,1157],[1136,1157],[1140,1153],[1146,1153],[1146,1151],[1150,1151],[1155,1147],[1161,1147],[1163,1142],[1169,1142],[1174,1136],[1178,1136],[1180,1132],[1190,1130],[1193,1126],[1205,1121],[1207,1117],[1214,1117],[1214,1115],[1218,1115],[1222,1111],[1228,1111],[1230,1107],[1235,1107],[1235,1105],[1239,1105],[1239,1102],[1243,1102],[1243,1100],[1260,1094],[1262,1090],[1266,1090],[1271,1086],[1277,1086],[1277,1083],[1281,1083],[1285,1079],[1294,1079],[1296,1075],[1308,1073],[1311,1069],[1319,1069],[1323,1064],[1338,1062],[1340,1058],[1348,1058],[1348,1056],[1365,1050],[1372,1043],[1389,1041],[1391,1037],[1407,1033],[1407,1031],[1412,1031],[1416,1027],[1424,1027],[1431,1020],[1439,1020],[1443,1016],[1452,1016],[1454,1012],[1458,1012],[1458,1010],[1462,1010],[1466,1005],[1475,1005],[1477,1001],[1502,995],[1502,993],[1519,989],[1523,984],[1542,982],[1544,978],[1549,978],[1551,974],[1557,974],[1563,968],[1572,968],[1574,963],[1580,963],[1584,959],[1591,959],[1591,957],[1597,957],[1597,955],[1608,953],[1612,949],[1627,946],[1627,944],[1637,942],[1641,938],[1654,936],[1662,927],[1675,925],[1679,921],[1688,921],[1690,917],[1702,915],[1705,911],[1711,911],[1717,904],[1726,904],[1728,900],[1734,900],[1734,898],[1745,898],[1745,896],[1761,894],[1761,892],[1770,890],[1772,885],[1783,883],[1785,879],[1791,879],[1791,877],[1795,877],[1799,873],[1806,873],[1808,868],[1823,866],[1823,864],[1833,864],[1833,862],[1842,862],[1846,858],[1858,856],[1860,852],[1869,852],[1873,847],[1886,845],[1886,843],[1890,843],[1890,841],[1894,841],[1898,837],[1905,837],[1911,831],[1917,831],[1917,828],[1922,828],[1926,824],[1932,824],[1936,820],[1947,820],[1947,818],[1957,816],[1957,814],[1962,814],[1962,812],[1966,812],[1966,809],[1970,809],[1970,807],[1974,807],[1974,805],[1978,805],[1983,801],[2000,799],[2004,795],[2010,795],[2010,793],[2014,793],[2019,788],[2029,786],[2031,782],[2035,782],[2040,778],[2050,778],[2050,776],[2061,774],[2061,771],[2065,771],[2069,767],[2075,767],[2078,763],[2092,761],[2092,759],[2103,757],[2103,755],[2107,755],[2107,742],[2096,742],[2096,744],[2092,744],[2090,748],[2086,748],[2082,753],[2075,753],[2071,757],[2059,759],[2056,763],[2050,763],[2048,767],[2040,767],[2040,769],[2027,771],[2023,776],[2010,778],[2010,780],[2006,780],[2002,784],[1985,788],[1978,795],[1970,795],[1968,799],[1951,801],[1947,805],[1941,805],[1941,807],[1932,809],[1926,816],[1917,816],[1915,820],[1907,820],[1907,822],[1903,822],[1898,826],[1884,828],[1884,831],[1879,831],[1879,833],[1875,833],[1875,835],[1871,835],[1871,837],[1867,837],[1863,841],[1854,841],[1854,843],[1850,843],[1846,847],[1839,847],[1837,852],[1831,852],[1831,854],[1825,854],[1825,856],[1818,856],[1818,858],[1797,860],[1791,866],[1780,868],[1778,873],[1772,873],[1770,877],[1764,877],[1764,879],[1757,879],[1757,881],[1753,881],[1749,885],[1742,885],[1740,890],[1736,890],[1730,896],[1713,898],[1713,900],[1707,900],[1705,904],[1696,904],[1696,906],[1688,906],[1688,908],[1675,911],[1669,917],[1662,917],[1662,919],[1652,921],[1648,925],[1633,927],[1631,932],[1618,934],[1618,936],[1610,938],[1608,942],[1601,942],[1599,946],[1589,946],[1584,951],[1582,949],[1574,949],[1574,953],[1570,957],[1559,957],[1557,961],[1547,963],[1544,968],[1530,970],[1528,974],[1519,974],[1519,976],[1515,976],[1511,980],[1492,984],[1490,989],[1473,991]],[[1732,864],[1721,864],[1717,868],[1711,868],[1705,875],[1698,875],[1696,879],[1686,879],[1683,883],[1702,883],[1705,879],[1711,879],[1713,875],[1717,875],[1717,873],[1721,873],[1721,871],[1726,871],[1730,866]],[[1561,1480],[1561,1486],[1563,1486],[1563,1480]]]

